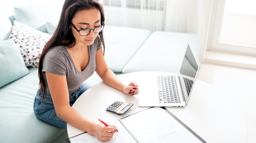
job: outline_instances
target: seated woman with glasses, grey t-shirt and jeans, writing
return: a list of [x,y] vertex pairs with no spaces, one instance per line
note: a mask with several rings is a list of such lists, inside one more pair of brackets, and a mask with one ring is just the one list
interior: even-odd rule
[[123,84],[104,60],[103,7],[97,0],[66,0],[59,24],[46,43],[39,62],[40,88],[34,101],[34,113],[42,121],[67,128],[67,123],[95,135],[101,141],[113,137],[116,127],[86,120],[75,109],[74,101],[90,85],[84,81],[96,70],[113,88],[136,95],[136,82]]

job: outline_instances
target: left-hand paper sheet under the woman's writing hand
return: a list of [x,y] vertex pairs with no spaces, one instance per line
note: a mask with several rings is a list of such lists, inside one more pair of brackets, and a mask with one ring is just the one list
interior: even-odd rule
[[[116,125],[119,132],[115,132],[113,138],[104,143],[137,143],[119,121],[112,122],[111,124]],[[94,135],[91,135],[88,132],[72,137],[69,140],[71,143],[102,143]]]

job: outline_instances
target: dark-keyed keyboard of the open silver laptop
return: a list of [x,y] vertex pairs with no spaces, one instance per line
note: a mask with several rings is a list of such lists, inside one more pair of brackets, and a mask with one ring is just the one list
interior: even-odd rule
[[175,76],[157,76],[159,103],[180,103]]

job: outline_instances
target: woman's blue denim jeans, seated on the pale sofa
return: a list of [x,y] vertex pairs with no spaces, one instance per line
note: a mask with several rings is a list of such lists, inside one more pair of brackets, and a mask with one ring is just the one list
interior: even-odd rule
[[[83,82],[81,87],[77,91],[69,95],[69,105],[72,107],[75,100],[90,87],[91,85],[89,83]],[[56,115],[52,96],[46,94],[45,99],[42,101],[41,99],[43,99],[42,92],[37,92],[37,95],[35,95],[34,99],[35,116],[48,124],[54,125],[59,128],[67,129],[67,122],[61,120]]]

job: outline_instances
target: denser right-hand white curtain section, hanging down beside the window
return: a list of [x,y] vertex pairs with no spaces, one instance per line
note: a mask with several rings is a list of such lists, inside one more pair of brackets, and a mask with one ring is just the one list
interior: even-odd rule
[[200,62],[207,49],[207,32],[213,0],[167,0],[164,31],[194,33],[203,36]]

